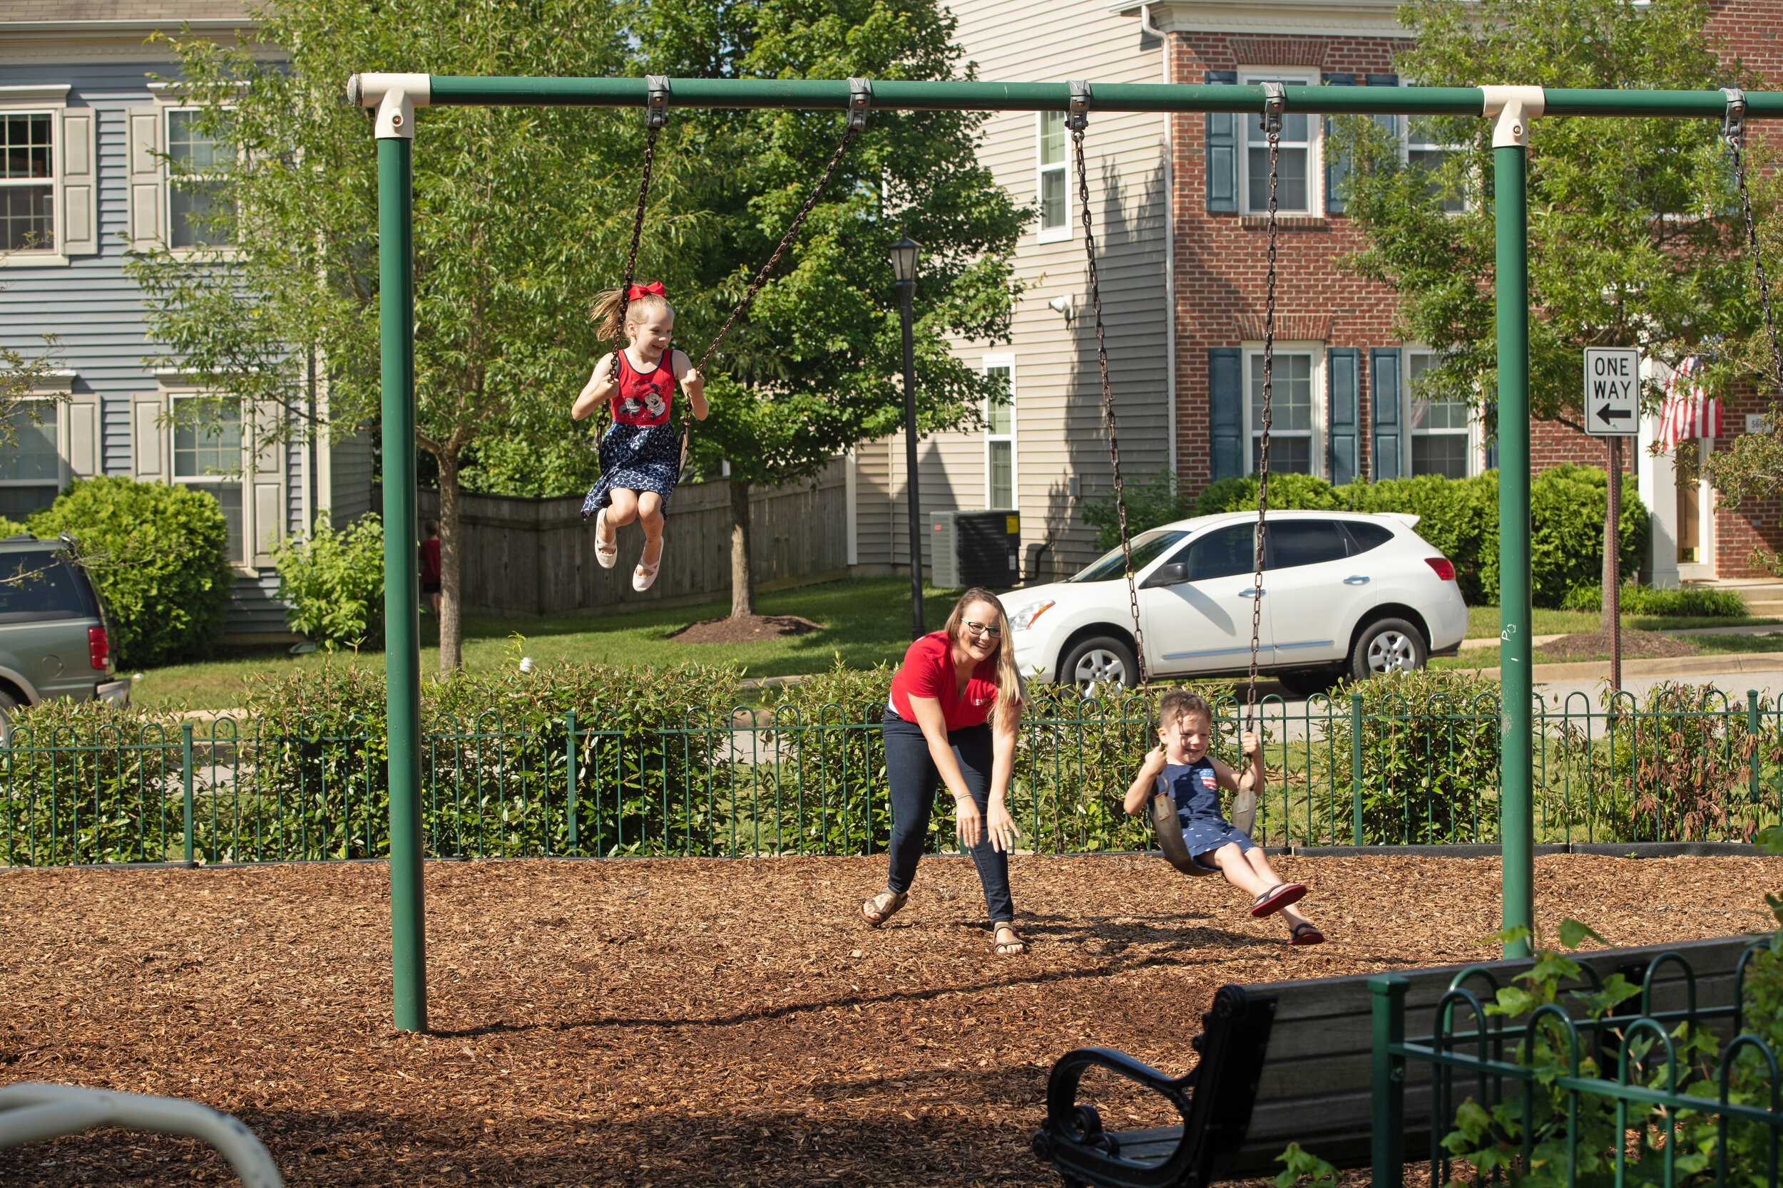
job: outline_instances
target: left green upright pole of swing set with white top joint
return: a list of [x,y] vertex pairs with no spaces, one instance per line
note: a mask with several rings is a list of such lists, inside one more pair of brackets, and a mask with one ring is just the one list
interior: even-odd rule
[[378,94],[378,346],[383,360],[383,679],[390,730],[390,990],[398,1031],[428,1028],[421,885],[421,582],[415,565],[412,75]]

